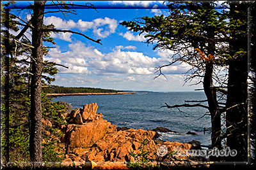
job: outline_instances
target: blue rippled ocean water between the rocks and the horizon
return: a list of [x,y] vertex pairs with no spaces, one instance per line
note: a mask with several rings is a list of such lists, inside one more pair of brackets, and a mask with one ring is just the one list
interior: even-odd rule
[[[102,113],[104,119],[118,127],[147,130],[166,127],[180,134],[161,133],[159,139],[179,142],[197,140],[202,145],[210,145],[211,134],[210,131],[204,134],[204,127],[208,130],[211,128],[211,118],[201,118],[207,109],[180,108],[180,112],[177,108],[161,108],[164,103],[174,105],[205,99],[203,92],[136,92],[124,95],[62,96],[53,98],[52,101],[65,101],[73,108],[83,108],[84,104],[97,103],[97,113]],[[187,135],[188,131],[196,132],[198,135]]]

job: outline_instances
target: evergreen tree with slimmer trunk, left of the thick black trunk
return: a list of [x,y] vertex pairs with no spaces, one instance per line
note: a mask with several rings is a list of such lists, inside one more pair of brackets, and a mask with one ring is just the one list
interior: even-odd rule
[[[122,25],[129,27],[134,32],[146,33],[147,43],[157,41],[154,49],[173,50],[172,62],[164,66],[159,66],[159,75],[163,74],[161,69],[170,66],[175,62],[189,64],[192,69],[186,81],[197,78],[198,83],[204,85],[205,96],[207,96],[208,106],[198,104],[182,104],[180,107],[202,106],[211,113],[212,123],[212,147],[221,147],[221,113],[222,108],[218,100],[217,93],[223,89],[214,87],[221,86],[223,82],[215,81],[214,69],[220,66],[221,60],[225,60],[221,50],[216,48],[223,41],[223,34],[226,36],[225,24],[227,16],[215,10],[213,1],[170,1],[168,2],[170,13],[150,17],[141,17],[140,20],[122,22]],[[224,33],[223,33],[224,32]],[[159,76],[158,75],[158,76]],[[176,108],[168,106],[168,108]],[[179,106],[178,106],[179,107]]]

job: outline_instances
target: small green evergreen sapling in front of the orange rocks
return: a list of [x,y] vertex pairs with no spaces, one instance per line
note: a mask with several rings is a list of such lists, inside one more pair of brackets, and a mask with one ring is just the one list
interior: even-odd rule
[[127,167],[129,169],[159,169],[159,166],[153,166],[152,163],[150,163],[150,158],[148,158],[148,151],[145,150],[145,146],[149,143],[149,140],[145,138],[145,134],[142,137],[142,141],[139,142],[141,145],[138,147],[139,151],[138,153],[129,152],[129,154],[134,157],[135,162],[129,162],[127,164]]

